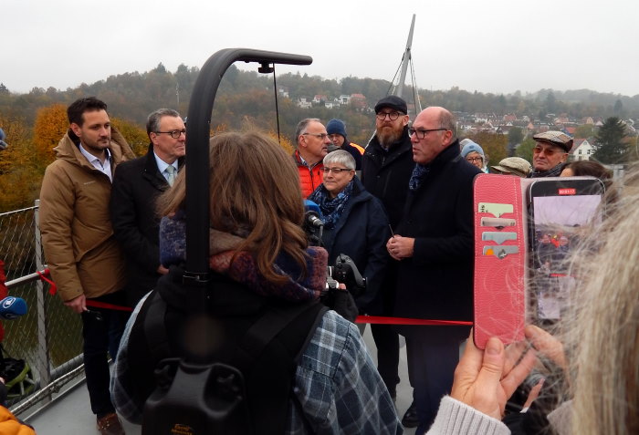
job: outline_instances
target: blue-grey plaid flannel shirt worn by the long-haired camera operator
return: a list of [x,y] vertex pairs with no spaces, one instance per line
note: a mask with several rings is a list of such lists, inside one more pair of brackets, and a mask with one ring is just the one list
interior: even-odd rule
[[[146,398],[135,396],[127,376],[127,345],[131,326],[144,297],[122,335],[111,376],[111,400],[120,415],[141,424]],[[288,404],[287,434],[401,434],[393,399],[383,384],[357,327],[334,311],[319,322],[297,368]],[[300,412],[300,409],[303,409]],[[259,429],[257,428],[259,432]]]

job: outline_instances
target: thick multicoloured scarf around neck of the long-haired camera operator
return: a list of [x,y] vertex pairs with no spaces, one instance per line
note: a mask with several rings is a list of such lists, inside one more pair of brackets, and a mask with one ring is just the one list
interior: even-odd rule
[[[160,257],[164,266],[180,264],[186,259],[186,221],[183,212],[165,216],[160,222]],[[248,251],[237,251],[245,238],[214,229],[209,231],[209,267],[225,274],[239,284],[246,285],[257,295],[273,296],[288,301],[316,299],[326,282],[329,254],[324,248],[306,249],[306,275],[288,254],[278,254],[273,270],[287,277],[284,284],[268,281],[257,268],[257,261]]]

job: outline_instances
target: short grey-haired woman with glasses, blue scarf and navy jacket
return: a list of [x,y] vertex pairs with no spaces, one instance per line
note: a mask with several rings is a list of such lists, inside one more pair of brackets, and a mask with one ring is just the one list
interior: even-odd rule
[[[329,264],[347,254],[366,278],[366,291],[356,295],[360,314],[376,314],[376,300],[388,261],[386,241],[390,227],[382,202],[367,192],[355,177],[355,160],[345,150],[324,157],[324,179],[309,200],[319,205],[324,221],[322,243],[329,252]],[[363,332],[363,327],[361,327]]]

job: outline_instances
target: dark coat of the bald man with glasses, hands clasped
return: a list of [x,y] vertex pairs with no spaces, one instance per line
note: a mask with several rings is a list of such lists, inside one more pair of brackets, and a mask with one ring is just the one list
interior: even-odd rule
[[473,179],[479,169],[459,154],[456,140],[409,191],[395,233],[414,237],[414,254],[399,262],[395,316],[473,318]]

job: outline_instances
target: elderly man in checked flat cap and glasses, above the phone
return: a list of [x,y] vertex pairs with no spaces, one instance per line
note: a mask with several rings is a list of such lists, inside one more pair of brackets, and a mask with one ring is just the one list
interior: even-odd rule
[[559,177],[572,148],[572,138],[561,131],[536,134],[532,149],[532,172],[529,178]]

